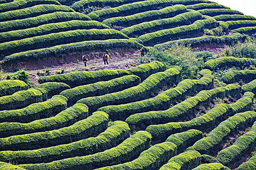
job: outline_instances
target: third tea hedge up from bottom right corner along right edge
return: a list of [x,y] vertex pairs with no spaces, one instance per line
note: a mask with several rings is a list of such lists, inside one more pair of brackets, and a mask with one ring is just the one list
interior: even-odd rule
[[[244,127],[246,124],[255,122],[255,120],[256,112],[247,111],[244,113],[237,113],[235,116],[232,116],[221,122],[207,135],[207,137],[198,140],[192,147],[189,147],[187,150],[196,150],[201,154],[208,154],[218,143],[222,141],[222,139],[224,139],[224,137],[228,136],[236,129]],[[221,161],[219,157],[218,161]]]

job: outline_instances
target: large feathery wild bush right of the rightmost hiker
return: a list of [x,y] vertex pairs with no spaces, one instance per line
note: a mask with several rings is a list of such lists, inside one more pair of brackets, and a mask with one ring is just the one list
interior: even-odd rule
[[153,60],[160,61],[168,67],[180,66],[183,78],[195,78],[197,71],[202,66],[202,60],[193,55],[191,46],[173,44],[165,51],[149,51],[148,56]]

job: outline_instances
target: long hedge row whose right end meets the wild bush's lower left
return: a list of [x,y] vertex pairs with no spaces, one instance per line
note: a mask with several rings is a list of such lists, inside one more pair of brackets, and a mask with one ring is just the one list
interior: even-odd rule
[[[77,103],[84,103],[89,107],[89,112],[93,112],[101,107],[99,110],[106,110],[109,112],[112,110],[110,105],[117,105],[128,102],[135,102],[148,98],[151,92],[161,87],[164,84],[175,83],[179,80],[180,77],[180,67],[170,68],[164,72],[158,72],[150,75],[145,81],[140,85],[130,87],[123,91],[116,93],[110,93],[103,96],[89,97],[79,100]],[[106,106],[106,107],[104,107]],[[115,110],[117,111],[117,110]],[[126,116],[123,113],[119,114],[110,114],[110,119],[120,119]]]

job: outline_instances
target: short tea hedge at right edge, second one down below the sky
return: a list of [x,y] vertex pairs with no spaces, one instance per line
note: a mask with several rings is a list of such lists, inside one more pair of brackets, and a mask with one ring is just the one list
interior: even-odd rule
[[241,27],[255,27],[256,20],[241,20],[241,21],[219,21],[219,25],[224,29],[235,30]]

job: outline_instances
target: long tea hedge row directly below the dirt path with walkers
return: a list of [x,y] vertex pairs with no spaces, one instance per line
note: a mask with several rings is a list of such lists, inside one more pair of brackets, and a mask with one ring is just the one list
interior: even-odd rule
[[[92,83],[97,83],[99,81],[108,81],[118,77],[123,77],[130,75],[131,73],[136,73],[142,79],[143,76],[149,76],[158,71],[163,71],[165,69],[164,64],[158,61],[151,62],[149,64],[142,64],[134,68],[129,69],[105,69],[98,71],[73,71],[61,75],[44,76],[39,78],[39,83],[46,82],[61,82],[72,87],[78,85],[87,85]],[[144,77],[143,77],[144,78]]]

